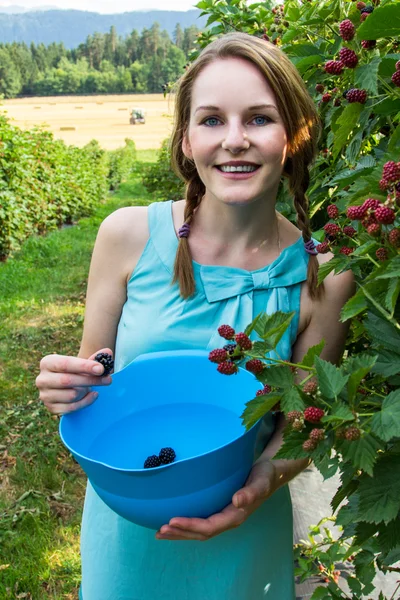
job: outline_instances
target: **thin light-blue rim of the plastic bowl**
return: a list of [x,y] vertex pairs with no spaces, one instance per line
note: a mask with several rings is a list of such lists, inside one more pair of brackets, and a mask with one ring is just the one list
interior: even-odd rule
[[[119,371],[117,371],[116,373],[112,374],[112,377],[119,377],[121,373],[123,373],[125,370],[127,370],[133,363],[137,363],[137,362],[144,362],[144,361],[148,361],[148,360],[157,360],[160,358],[169,358],[169,357],[185,357],[187,358],[189,357],[200,357],[200,358],[204,358],[206,357],[208,359],[208,355],[209,352],[207,350],[162,350],[159,352],[147,352],[147,353],[143,353],[143,354],[139,354],[136,358],[134,358],[130,363],[128,363],[127,365],[125,365],[125,367],[123,367],[122,369],[120,369]],[[243,367],[238,367],[239,371],[241,373],[246,373],[246,376],[251,376],[254,378],[255,382],[257,382],[257,378],[250,373],[249,371],[247,371],[246,369],[244,369]],[[260,384],[260,389],[262,389],[262,384],[261,382],[259,382]],[[102,390],[101,386],[92,386],[91,388],[92,390]],[[250,399],[251,400],[251,399]],[[85,408],[89,408],[91,405],[89,406],[85,406],[81,409],[79,409],[79,411],[81,410],[85,410]],[[127,468],[121,468],[121,467],[116,467],[113,465],[108,464],[107,462],[101,461],[101,460],[96,460],[93,458],[88,458],[87,456],[84,456],[83,454],[81,454],[80,452],[77,452],[76,450],[73,450],[71,448],[71,446],[66,442],[64,435],[63,435],[63,431],[62,431],[62,427],[63,427],[63,423],[65,423],[65,420],[68,420],[69,417],[73,416],[75,414],[75,412],[73,411],[72,413],[66,413],[64,415],[61,416],[60,419],[60,423],[59,423],[59,427],[58,427],[58,432],[59,432],[59,436],[61,438],[62,443],[64,444],[64,446],[69,450],[69,452],[73,455],[73,456],[77,456],[79,458],[81,458],[84,461],[88,461],[93,465],[101,465],[102,467],[106,467],[107,469],[111,469],[113,471],[117,471],[119,473],[155,473],[155,472],[159,472],[161,469],[167,469],[167,468],[171,468],[174,465],[178,465],[178,464],[182,464],[185,462],[188,462],[190,460],[194,460],[196,458],[201,458],[203,456],[207,456],[208,454],[212,454],[213,452],[217,452],[218,450],[221,450],[222,448],[226,448],[228,446],[230,446],[231,444],[234,444],[235,442],[237,442],[238,439],[240,439],[241,437],[245,437],[247,435],[250,434],[250,432],[259,426],[262,417],[260,419],[258,419],[251,427],[250,429],[247,429],[244,431],[244,433],[242,433],[241,435],[238,435],[237,437],[235,437],[234,439],[232,439],[230,442],[228,442],[227,444],[223,444],[221,446],[218,446],[216,448],[213,448],[212,450],[208,450],[207,452],[203,452],[202,454],[197,454],[196,456],[190,456],[188,458],[181,458],[179,460],[175,460],[172,463],[169,463],[168,465],[160,465],[159,467],[152,467],[151,469],[145,469],[145,468],[140,468],[140,469],[127,469]],[[239,417],[241,418],[241,417]]]

